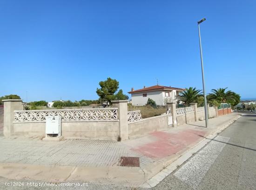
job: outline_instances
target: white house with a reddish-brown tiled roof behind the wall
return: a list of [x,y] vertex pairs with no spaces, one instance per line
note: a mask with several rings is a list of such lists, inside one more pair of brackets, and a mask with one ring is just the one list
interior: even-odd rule
[[143,89],[132,90],[128,92],[132,96],[132,105],[143,106],[147,103],[148,98],[155,101],[156,105],[164,106],[167,102],[175,102],[175,97],[179,92],[184,91],[182,88],[167,87],[155,85]]

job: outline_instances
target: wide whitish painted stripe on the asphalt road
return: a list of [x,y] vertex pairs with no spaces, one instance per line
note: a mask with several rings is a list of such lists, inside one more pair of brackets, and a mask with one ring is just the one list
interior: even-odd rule
[[196,189],[230,138],[216,136],[202,151],[185,163],[174,175]]

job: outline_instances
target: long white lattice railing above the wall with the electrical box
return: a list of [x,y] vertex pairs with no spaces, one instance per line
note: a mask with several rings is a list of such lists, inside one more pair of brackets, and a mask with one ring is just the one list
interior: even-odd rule
[[111,121],[117,120],[118,108],[89,109],[53,109],[53,110],[22,110],[14,111],[14,123],[45,122],[46,116],[61,116],[61,120],[70,121]]

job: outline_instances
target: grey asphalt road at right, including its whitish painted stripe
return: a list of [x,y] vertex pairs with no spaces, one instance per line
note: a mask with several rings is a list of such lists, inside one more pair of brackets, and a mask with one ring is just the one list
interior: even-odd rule
[[256,114],[244,114],[153,190],[256,190]]

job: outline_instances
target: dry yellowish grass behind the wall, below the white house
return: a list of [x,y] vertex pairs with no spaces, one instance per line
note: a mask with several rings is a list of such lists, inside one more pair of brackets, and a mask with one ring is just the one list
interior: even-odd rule
[[166,113],[167,109],[162,106],[158,108],[153,108],[151,106],[131,106],[128,105],[128,111],[134,111],[134,110],[141,110],[141,117],[148,118],[148,117],[154,117],[161,114]]

